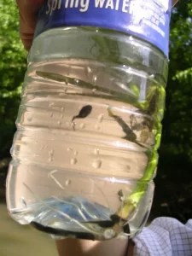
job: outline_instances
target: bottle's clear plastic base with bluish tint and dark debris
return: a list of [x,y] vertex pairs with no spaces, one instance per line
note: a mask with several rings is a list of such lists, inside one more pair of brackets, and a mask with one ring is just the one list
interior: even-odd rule
[[[41,201],[25,209],[12,209],[10,214],[20,224],[31,224],[54,239],[102,241],[132,237],[141,230],[122,222],[108,207],[73,196]],[[145,214],[143,223],[147,217]]]

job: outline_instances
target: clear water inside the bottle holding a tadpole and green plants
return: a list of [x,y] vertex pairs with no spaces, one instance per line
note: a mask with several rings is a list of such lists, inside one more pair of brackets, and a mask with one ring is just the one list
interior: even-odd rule
[[152,202],[164,94],[154,75],[125,65],[30,65],[9,166],[12,217],[55,237],[134,236]]

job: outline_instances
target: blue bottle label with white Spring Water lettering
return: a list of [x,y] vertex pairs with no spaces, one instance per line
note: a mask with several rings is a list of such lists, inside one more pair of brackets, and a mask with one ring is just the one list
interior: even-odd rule
[[168,56],[172,0],[48,0],[38,34],[61,26],[96,26],[143,38]]

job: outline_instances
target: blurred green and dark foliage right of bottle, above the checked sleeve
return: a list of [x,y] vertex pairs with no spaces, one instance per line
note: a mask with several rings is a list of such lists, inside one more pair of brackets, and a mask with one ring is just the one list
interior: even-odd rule
[[151,218],[192,216],[192,1],[172,12],[166,113]]

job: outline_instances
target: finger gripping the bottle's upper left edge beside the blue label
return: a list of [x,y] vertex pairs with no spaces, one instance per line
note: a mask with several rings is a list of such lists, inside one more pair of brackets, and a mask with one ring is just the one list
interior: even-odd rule
[[20,38],[26,50],[29,50],[32,46],[38,10],[45,1],[16,0],[20,14]]

